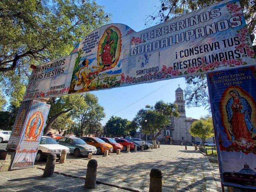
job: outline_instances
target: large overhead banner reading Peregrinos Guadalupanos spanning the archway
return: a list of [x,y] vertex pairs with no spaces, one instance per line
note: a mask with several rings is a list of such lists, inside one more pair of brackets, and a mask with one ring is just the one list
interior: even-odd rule
[[36,66],[24,100],[152,83],[255,65],[238,0],[135,32],[102,26],[70,55]]

